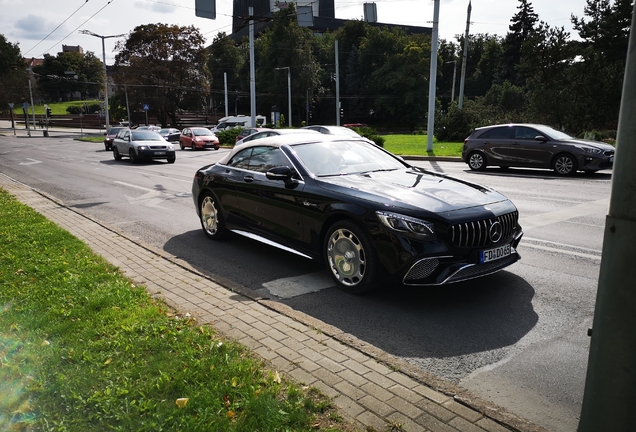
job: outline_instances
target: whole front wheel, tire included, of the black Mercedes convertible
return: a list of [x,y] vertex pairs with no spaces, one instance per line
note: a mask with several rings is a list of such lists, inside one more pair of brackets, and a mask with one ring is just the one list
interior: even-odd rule
[[362,294],[379,285],[377,259],[371,241],[351,221],[333,224],[325,238],[325,261],[338,288]]

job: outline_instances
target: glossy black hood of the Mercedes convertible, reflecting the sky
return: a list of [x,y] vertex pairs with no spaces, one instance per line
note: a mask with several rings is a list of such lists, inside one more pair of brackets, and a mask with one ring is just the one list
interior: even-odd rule
[[507,201],[485,186],[415,168],[319,177],[317,181],[333,192],[413,212],[449,213]]

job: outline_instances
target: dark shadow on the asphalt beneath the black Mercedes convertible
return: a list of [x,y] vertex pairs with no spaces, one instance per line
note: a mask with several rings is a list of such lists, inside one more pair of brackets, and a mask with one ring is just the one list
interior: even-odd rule
[[[164,249],[191,265],[262,293],[262,284],[324,267],[238,235],[208,240],[199,230]],[[514,269],[514,266],[512,267]],[[392,284],[367,295],[334,287],[276,299],[399,357],[445,358],[514,345],[538,322],[535,291],[509,271],[439,287]]]

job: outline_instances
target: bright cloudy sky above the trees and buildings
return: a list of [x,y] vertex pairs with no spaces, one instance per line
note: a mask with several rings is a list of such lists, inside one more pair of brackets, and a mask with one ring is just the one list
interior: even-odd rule
[[[362,19],[363,4],[370,0],[335,0],[336,18]],[[432,27],[433,0],[375,0],[378,22]],[[439,0],[438,35],[455,40],[466,31],[469,0]],[[570,16],[582,18],[586,0],[531,0],[540,21],[564,27],[576,39]],[[195,0],[0,0],[0,34],[18,43],[26,58],[56,55],[62,45],[80,45],[102,59],[100,36],[127,35],[136,26],[163,23],[193,25],[208,43],[219,32],[232,32],[232,0],[216,0],[215,20],[195,16]],[[471,34],[504,36],[518,12],[518,0],[472,0]],[[104,39],[106,64],[115,58],[115,44],[125,37]]]

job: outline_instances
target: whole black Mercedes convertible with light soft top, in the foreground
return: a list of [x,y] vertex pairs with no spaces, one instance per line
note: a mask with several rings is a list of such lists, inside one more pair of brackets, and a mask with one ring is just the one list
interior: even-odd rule
[[351,293],[384,276],[439,285],[519,259],[515,206],[477,184],[413,167],[356,138],[289,134],[235,147],[199,169],[204,233],[228,231],[322,260]]

